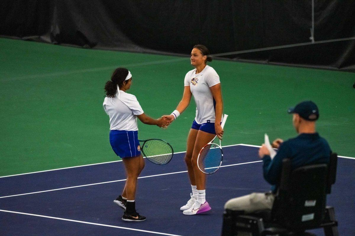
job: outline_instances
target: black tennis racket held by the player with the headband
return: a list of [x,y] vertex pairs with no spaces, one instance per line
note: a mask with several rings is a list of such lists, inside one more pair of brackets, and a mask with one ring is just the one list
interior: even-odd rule
[[161,139],[138,140],[143,142],[141,151],[151,162],[157,165],[168,164],[174,155],[173,147]]

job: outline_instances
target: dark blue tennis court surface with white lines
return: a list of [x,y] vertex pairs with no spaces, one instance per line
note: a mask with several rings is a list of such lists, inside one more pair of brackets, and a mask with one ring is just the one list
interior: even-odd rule
[[[125,184],[123,163],[110,162],[0,178],[1,235],[220,235],[224,203],[232,197],[264,192],[258,148],[243,144],[223,148],[222,167],[207,177],[207,214],[183,215],[190,183],[185,153],[168,165],[146,160],[138,179],[137,211],[143,222],[121,220],[113,203]],[[340,235],[355,235],[355,159],[338,159],[337,182],[328,195]],[[313,230],[324,235],[322,230]]]

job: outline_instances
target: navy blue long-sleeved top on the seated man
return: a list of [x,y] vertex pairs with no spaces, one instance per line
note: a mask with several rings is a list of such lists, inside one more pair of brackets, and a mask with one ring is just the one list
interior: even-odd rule
[[263,172],[267,182],[272,184],[272,192],[276,192],[284,158],[291,159],[291,169],[300,166],[329,163],[331,149],[327,140],[318,133],[301,133],[296,138],[283,142],[273,160],[269,155],[263,157]]

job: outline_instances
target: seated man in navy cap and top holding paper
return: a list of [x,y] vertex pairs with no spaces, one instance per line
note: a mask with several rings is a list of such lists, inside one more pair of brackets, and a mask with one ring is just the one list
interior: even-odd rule
[[264,144],[259,149],[259,157],[263,160],[264,178],[272,184],[271,192],[254,192],[232,198],[225,203],[225,209],[243,211],[246,214],[271,209],[284,158],[291,159],[291,169],[316,163],[329,163],[331,149],[328,142],[316,132],[316,120],[319,117],[317,105],[311,101],[301,102],[296,107],[290,108],[288,113],[293,114],[293,126],[299,136],[285,142],[276,139],[272,146],[279,150],[273,160]]

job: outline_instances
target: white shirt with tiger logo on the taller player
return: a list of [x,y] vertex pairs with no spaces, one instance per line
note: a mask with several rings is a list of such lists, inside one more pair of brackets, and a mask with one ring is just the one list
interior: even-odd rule
[[190,70],[185,75],[185,86],[190,86],[190,91],[196,103],[196,122],[202,123],[215,121],[215,100],[212,96],[210,87],[220,83],[217,72],[206,65],[198,74],[196,69]]

